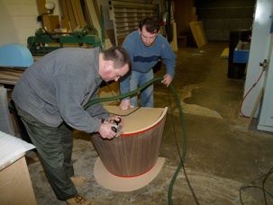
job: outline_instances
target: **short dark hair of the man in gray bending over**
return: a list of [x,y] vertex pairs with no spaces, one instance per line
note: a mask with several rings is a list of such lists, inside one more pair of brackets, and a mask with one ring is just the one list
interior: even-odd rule
[[131,68],[132,61],[129,53],[122,47],[112,47],[102,51],[104,53],[105,60],[112,60],[114,62],[114,68],[124,67],[126,64]]

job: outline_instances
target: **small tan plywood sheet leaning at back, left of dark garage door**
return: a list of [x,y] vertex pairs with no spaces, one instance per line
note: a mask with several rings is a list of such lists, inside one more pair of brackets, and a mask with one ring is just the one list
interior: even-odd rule
[[189,27],[194,35],[197,47],[200,48],[204,46],[207,40],[205,37],[203,22],[190,22]]

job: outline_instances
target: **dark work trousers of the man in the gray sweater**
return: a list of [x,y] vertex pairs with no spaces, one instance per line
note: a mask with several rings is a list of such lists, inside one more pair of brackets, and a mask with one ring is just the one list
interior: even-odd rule
[[68,200],[77,194],[70,177],[74,175],[72,164],[73,133],[66,123],[58,128],[49,127],[36,120],[28,112],[16,106],[33,145],[41,156],[45,174],[59,200]]

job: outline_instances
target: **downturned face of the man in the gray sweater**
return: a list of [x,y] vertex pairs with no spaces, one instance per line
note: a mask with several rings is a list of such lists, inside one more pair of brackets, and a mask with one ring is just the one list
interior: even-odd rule
[[114,63],[111,60],[105,62],[104,73],[103,75],[101,75],[101,78],[105,82],[109,82],[112,80],[116,82],[119,80],[121,76],[125,76],[129,71],[128,64],[124,65],[124,67],[116,68],[116,69],[113,67],[113,65]]

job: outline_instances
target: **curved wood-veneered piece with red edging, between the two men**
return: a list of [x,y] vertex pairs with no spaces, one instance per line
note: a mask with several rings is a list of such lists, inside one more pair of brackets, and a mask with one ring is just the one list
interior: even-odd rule
[[[133,111],[121,111],[116,106],[105,108],[118,115]],[[101,138],[97,134],[91,137],[109,173],[134,177],[150,171],[159,157],[167,111],[167,107],[141,108],[123,117],[123,134],[120,137],[111,140]]]

